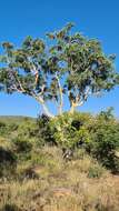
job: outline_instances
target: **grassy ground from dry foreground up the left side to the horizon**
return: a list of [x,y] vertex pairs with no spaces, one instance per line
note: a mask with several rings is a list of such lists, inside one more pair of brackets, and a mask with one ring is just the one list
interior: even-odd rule
[[[13,124],[16,118],[10,119],[9,124]],[[18,121],[20,134],[26,121],[34,123],[32,119]],[[111,174],[85,150],[77,150],[66,161],[60,148],[36,144],[34,137],[29,140],[31,150],[18,151],[12,142],[17,132],[13,128],[12,132],[8,130],[0,135],[1,151],[16,155],[12,162],[7,155],[0,157],[3,159],[0,161],[0,211],[119,211],[118,175]]]

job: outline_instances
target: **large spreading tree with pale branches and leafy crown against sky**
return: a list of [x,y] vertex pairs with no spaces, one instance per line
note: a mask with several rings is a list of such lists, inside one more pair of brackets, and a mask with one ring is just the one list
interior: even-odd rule
[[106,56],[97,39],[79,32],[71,34],[72,27],[68,23],[60,31],[48,33],[49,44],[32,37],[27,37],[20,48],[3,42],[0,90],[34,98],[52,118],[48,101],[54,102],[61,114],[68,98],[73,112],[90,96],[110,91],[118,84],[115,56]]

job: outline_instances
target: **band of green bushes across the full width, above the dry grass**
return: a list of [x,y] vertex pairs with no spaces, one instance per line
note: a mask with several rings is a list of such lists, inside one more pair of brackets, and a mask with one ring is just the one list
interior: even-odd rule
[[[81,160],[85,154],[89,154],[113,173],[119,172],[119,121],[113,117],[111,108],[97,115],[66,112],[53,119],[42,115],[37,121],[26,118],[20,124],[6,122],[1,123],[1,177],[7,175],[3,167],[8,167],[10,161],[12,167],[18,161],[30,161],[32,165],[53,168],[51,153],[42,153],[44,145],[58,147],[62,158],[68,155],[68,160]],[[90,171],[95,174],[95,170]]]

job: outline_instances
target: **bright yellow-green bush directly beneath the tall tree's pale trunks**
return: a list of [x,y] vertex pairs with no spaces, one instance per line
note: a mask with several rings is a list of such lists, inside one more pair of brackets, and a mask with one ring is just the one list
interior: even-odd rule
[[90,142],[90,134],[85,127],[89,114],[65,113],[50,121],[49,127],[54,142],[62,148],[75,149],[78,145],[87,145]]

